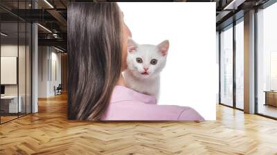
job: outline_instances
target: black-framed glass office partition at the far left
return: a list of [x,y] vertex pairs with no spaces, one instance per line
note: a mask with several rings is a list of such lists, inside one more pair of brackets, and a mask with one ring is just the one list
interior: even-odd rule
[[[13,1],[15,9],[29,9],[31,1]],[[1,1],[7,4],[8,1]],[[31,24],[0,9],[0,123],[31,113]]]

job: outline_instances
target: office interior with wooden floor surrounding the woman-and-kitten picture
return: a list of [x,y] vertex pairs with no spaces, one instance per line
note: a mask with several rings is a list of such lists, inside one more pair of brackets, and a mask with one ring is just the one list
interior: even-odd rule
[[168,1],[215,4],[216,120],[203,122],[68,120],[71,2],[93,3],[0,1],[0,154],[277,154],[276,0]]

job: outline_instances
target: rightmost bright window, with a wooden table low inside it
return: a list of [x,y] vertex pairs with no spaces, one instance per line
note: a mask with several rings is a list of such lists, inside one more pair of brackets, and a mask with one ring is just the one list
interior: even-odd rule
[[257,12],[258,113],[277,118],[277,3]]

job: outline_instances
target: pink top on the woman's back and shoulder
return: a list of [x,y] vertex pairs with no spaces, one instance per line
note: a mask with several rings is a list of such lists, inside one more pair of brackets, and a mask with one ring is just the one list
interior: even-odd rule
[[151,95],[116,86],[111,102],[100,120],[199,120],[204,118],[195,109],[177,105],[158,105]]

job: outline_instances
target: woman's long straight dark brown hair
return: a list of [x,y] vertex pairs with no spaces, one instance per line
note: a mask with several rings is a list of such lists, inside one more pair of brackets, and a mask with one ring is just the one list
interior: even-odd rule
[[107,109],[121,73],[120,14],[117,3],[69,4],[69,119],[98,120]]

